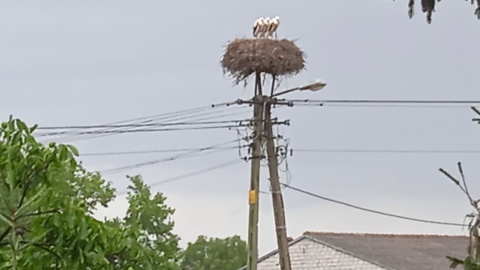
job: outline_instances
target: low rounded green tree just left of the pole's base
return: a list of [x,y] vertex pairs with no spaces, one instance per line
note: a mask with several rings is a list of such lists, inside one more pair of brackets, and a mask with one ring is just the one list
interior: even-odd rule
[[181,261],[182,270],[238,270],[247,263],[247,244],[240,236],[207,238],[200,235],[188,243]]

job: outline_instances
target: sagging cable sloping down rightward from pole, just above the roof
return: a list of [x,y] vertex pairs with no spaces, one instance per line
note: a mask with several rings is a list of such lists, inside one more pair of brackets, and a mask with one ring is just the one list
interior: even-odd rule
[[378,215],[383,215],[383,216],[393,217],[393,218],[398,218],[398,219],[404,219],[404,220],[410,220],[410,221],[415,221],[415,222],[421,222],[421,223],[447,225],[447,226],[459,226],[459,227],[467,226],[465,224],[460,224],[460,223],[434,221],[434,220],[428,220],[428,219],[412,218],[412,217],[407,217],[407,216],[402,216],[402,215],[390,214],[390,213],[386,213],[386,212],[382,212],[382,211],[368,209],[368,208],[361,207],[361,206],[356,206],[356,205],[353,205],[353,204],[350,204],[350,203],[342,202],[342,201],[339,201],[339,200],[334,200],[334,199],[327,198],[327,197],[324,197],[324,196],[320,196],[318,194],[315,194],[315,193],[312,193],[312,192],[309,192],[309,191],[306,191],[306,190],[303,190],[303,189],[299,189],[299,188],[296,188],[296,187],[293,187],[293,186],[290,186],[290,185],[282,184],[282,186],[284,186],[285,188],[288,188],[288,189],[291,189],[291,190],[294,190],[294,191],[297,191],[297,192],[315,197],[317,199],[329,201],[329,202],[336,203],[336,204],[341,204],[341,205],[344,205],[344,206],[347,206],[347,207],[350,207],[350,208],[354,208],[354,209],[365,211],[365,212],[370,212],[370,213],[373,213],[373,214],[378,214]]

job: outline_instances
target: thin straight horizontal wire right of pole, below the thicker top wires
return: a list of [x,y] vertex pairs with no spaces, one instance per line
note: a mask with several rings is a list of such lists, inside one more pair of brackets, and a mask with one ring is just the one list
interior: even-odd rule
[[407,149],[292,149],[311,153],[392,153],[392,154],[480,154],[480,150],[407,150]]

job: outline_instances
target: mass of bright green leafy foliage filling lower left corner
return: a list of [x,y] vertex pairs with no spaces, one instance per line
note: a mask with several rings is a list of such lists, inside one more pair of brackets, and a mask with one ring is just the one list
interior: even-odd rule
[[115,197],[73,146],[45,146],[10,117],[0,127],[0,269],[177,269],[173,209],[130,177],[123,219],[92,213]]

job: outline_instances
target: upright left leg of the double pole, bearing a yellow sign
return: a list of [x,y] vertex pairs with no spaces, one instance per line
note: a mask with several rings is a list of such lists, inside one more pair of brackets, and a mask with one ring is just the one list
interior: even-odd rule
[[264,97],[260,83],[260,73],[255,76],[255,96],[253,98],[253,142],[251,156],[250,205],[248,217],[248,258],[247,270],[257,270],[258,261],[258,213],[260,191],[260,161],[262,159],[262,140],[264,123]]

